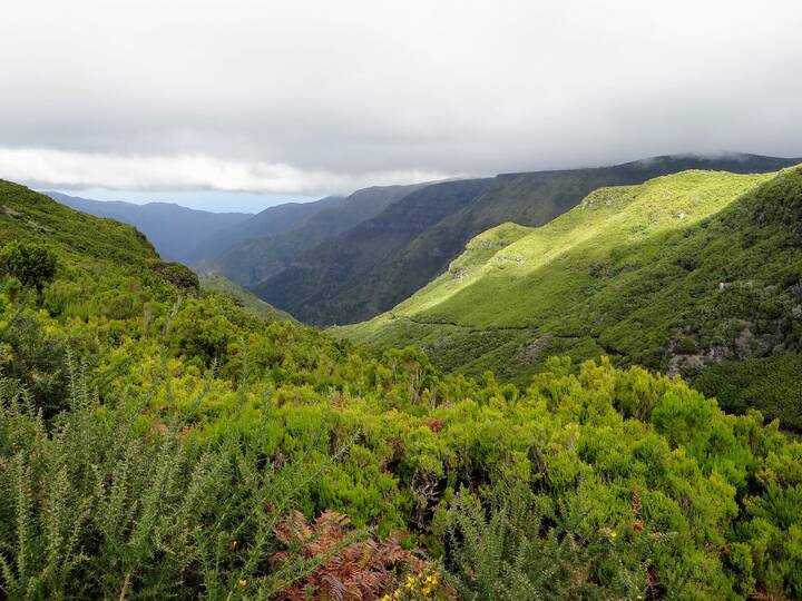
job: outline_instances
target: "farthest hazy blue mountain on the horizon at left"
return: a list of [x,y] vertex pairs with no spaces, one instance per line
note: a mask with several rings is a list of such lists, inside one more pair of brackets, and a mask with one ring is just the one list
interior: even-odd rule
[[158,253],[169,259],[192,263],[198,259],[200,240],[221,229],[241,224],[252,217],[245,213],[209,213],[170,203],[99,201],[68,196],[56,191],[43,193],[74,209],[130,224],[145,234]]

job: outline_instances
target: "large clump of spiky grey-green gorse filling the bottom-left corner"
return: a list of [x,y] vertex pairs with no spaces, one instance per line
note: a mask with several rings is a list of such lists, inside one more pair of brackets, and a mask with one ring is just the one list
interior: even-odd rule
[[47,424],[0,380],[0,593],[11,599],[271,597],[305,575],[274,534],[324,460],[274,467],[258,439],[212,445],[147,421],[147,400],[100,405],[70,368],[69,411]]

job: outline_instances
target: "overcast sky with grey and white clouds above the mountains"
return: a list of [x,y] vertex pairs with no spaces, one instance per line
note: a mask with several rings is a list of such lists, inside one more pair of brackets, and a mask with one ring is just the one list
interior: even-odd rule
[[0,28],[0,178],[78,196],[802,156],[799,0],[3,0]]

